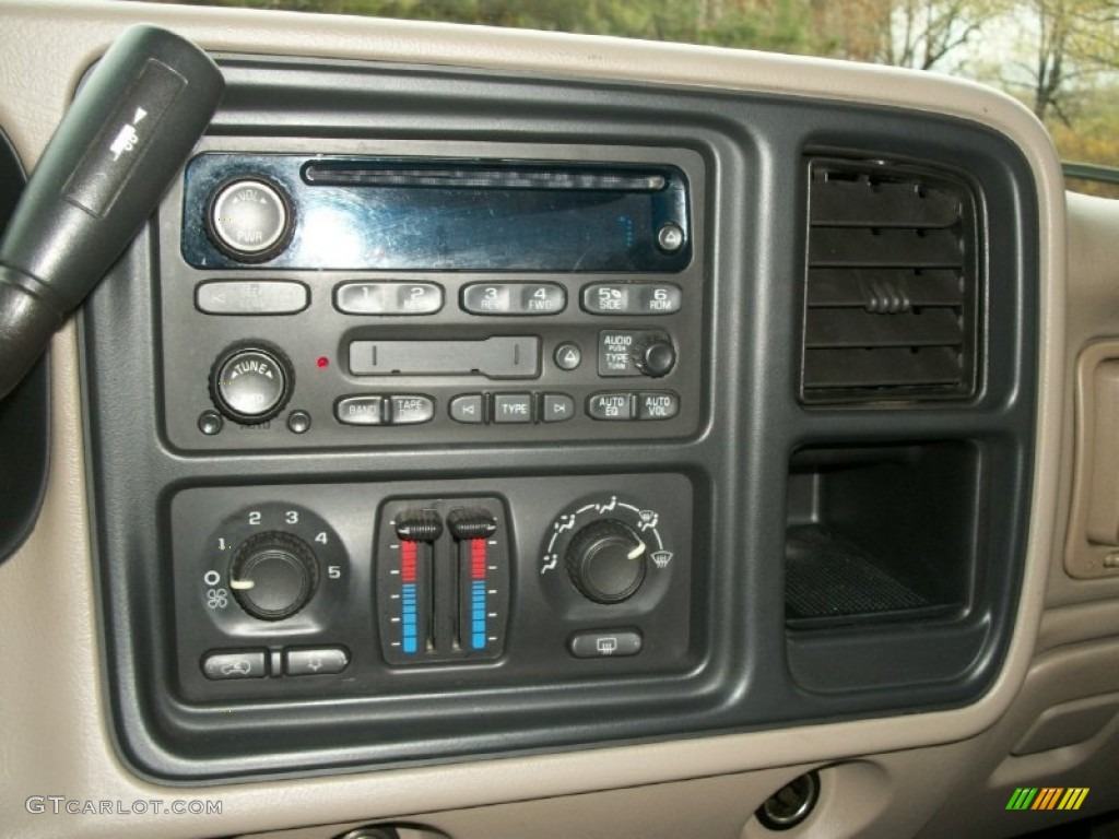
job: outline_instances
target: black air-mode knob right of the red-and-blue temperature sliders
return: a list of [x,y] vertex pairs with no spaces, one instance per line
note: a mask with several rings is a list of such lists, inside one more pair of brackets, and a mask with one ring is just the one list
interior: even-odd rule
[[645,582],[646,545],[617,519],[592,521],[567,546],[571,582],[595,603],[621,603]]

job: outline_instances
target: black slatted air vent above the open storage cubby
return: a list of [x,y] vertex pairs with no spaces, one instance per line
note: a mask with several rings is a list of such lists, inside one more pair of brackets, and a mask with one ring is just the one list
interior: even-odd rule
[[979,273],[971,191],[934,170],[810,161],[805,403],[975,393]]

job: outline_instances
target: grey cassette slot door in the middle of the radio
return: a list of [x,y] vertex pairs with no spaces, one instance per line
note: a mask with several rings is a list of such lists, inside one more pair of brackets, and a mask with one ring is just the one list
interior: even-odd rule
[[355,376],[469,376],[533,379],[540,375],[540,339],[499,336],[480,341],[351,341]]

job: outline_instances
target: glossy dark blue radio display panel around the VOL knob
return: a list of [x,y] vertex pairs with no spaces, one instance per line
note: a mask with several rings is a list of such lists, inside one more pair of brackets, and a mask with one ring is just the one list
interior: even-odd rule
[[687,182],[670,166],[210,153],[186,175],[190,265],[260,261],[219,247],[207,217],[238,178],[288,202],[291,229],[267,260],[275,267],[677,272],[690,261]]

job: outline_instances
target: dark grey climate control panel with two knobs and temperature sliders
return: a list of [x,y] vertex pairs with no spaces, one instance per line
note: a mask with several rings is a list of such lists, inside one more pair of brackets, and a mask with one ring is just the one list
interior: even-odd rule
[[681,475],[192,488],[171,521],[179,680],[192,699],[688,661]]

